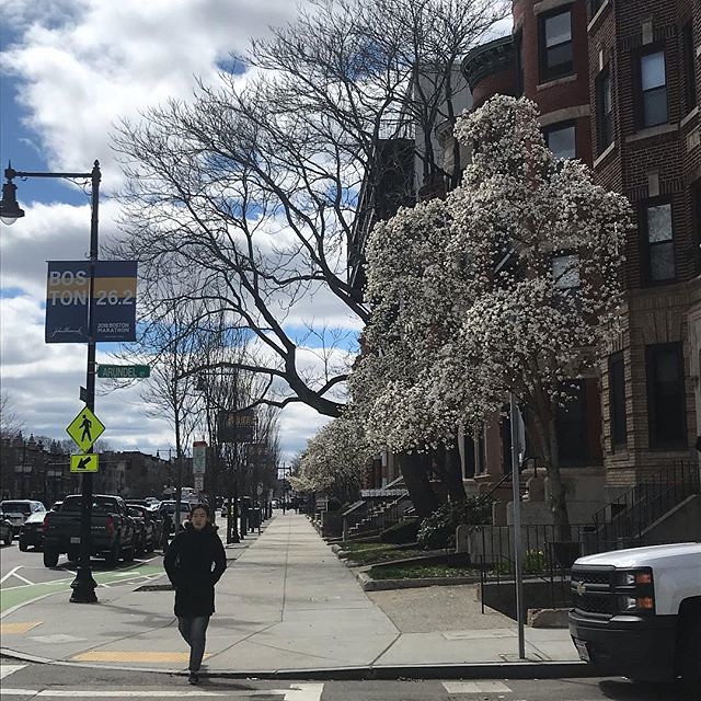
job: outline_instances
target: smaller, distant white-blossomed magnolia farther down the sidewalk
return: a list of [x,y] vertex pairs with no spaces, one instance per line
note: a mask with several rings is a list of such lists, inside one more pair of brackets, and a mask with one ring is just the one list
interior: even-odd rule
[[309,439],[290,483],[298,492],[326,492],[346,502],[357,495],[371,457],[363,426],[335,418]]

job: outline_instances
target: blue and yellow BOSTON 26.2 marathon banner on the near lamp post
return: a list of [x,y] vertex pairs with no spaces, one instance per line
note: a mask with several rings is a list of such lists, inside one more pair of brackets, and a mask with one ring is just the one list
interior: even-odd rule
[[[136,261],[97,261],[93,284],[95,342],[136,341]],[[88,343],[88,261],[49,261],[46,343]]]

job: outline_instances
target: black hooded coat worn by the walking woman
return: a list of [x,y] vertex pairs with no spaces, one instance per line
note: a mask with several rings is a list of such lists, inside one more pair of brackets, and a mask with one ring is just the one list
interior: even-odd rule
[[163,559],[175,587],[175,616],[194,618],[215,612],[215,584],[227,568],[227,555],[217,531],[207,524],[200,531],[185,524]]

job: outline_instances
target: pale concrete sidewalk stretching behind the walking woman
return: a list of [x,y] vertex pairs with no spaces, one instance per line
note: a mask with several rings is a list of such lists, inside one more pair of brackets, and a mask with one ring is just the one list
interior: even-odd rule
[[[526,629],[528,659],[519,660],[516,624],[496,611],[481,614],[474,587],[366,595],[304,516],[277,513],[242,548],[227,549],[232,560],[217,586],[204,668],[210,675],[587,674],[566,630]],[[164,583],[164,575],[149,582]],[[96,605],[68,604],[64,590],[16,607],[2,618],[1,652],[93,667],[182,671],[187,655],[173,593],[139,588],[101,586]]]

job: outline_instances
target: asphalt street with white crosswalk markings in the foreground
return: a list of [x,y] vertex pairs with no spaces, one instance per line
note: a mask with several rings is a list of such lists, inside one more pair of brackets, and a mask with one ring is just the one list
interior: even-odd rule
[[260,701],[680,701],[671,686],[634,685],[622,678],[549,680],[292,681],[203,678],[36,665],[3,659],[2,699],[255,699]]

